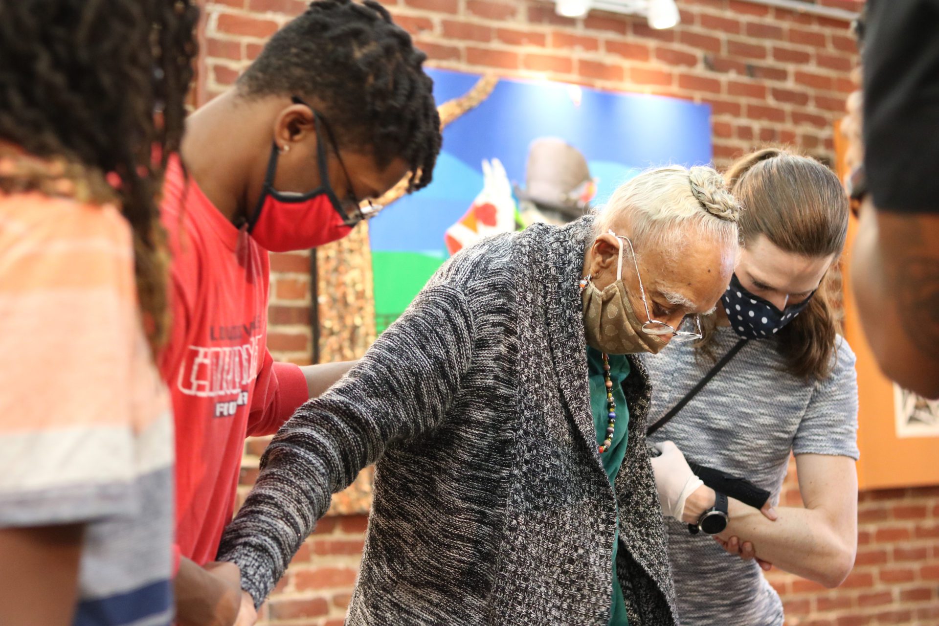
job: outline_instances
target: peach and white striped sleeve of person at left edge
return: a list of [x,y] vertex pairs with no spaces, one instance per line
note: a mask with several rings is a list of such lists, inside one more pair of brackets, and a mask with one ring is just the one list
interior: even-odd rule
[[0,197],[0,527],[137,511],[133,284],[114,207]]

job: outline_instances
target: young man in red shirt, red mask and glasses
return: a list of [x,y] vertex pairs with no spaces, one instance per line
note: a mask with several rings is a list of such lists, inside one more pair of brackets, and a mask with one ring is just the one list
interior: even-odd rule
[[440,131],[424,59],[377,3],[313,2],[192,114],[185,172],[167,169],[174,327],[161,369],[176,414],[180,624],[238,614],[237,568],[211,561],[245,436],[274,433],[347,369],[271,359],[268,252],[344,237],[363,200],[405,176],[409,191],[430,182]]

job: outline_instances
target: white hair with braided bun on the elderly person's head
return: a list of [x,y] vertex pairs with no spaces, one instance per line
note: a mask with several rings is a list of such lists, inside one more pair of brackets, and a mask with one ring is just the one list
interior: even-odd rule
[[[737,246],[739,214],[740,206],[716,170],[669,165],[646,170],[614,191],[597,215],[596,234],[612,230],[628,234],[639,249],[680,250],[687,243],[687,225],[710,241]],[[624,223],[629,232],[617,232]]]

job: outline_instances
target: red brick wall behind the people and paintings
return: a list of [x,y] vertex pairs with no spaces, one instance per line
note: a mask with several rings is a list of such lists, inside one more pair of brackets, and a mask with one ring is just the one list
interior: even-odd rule
[[[678,0],[682,23],[651,30],[641,18],[555,15],[540,0],[386,0],[431,65],[549,78],[610,90],[709,102],[718,165],[766,142],[833,158],[832,124],[854,88],[848,24],[733,0]],[[857,8],[853,0],[823,4]],[[265,38],[305,7],[300,0],[214,0],[205,23],[197,93],[232,84]],[[309,258],[274,255],[270,347],[309,362]],[[253,442],[244,484],[256,473]],[[793,472],[785,502],[798,502]],[[329,518],[271,598],[270,624],[338,626],[362,547],[365,517]],[[788,623],[812,626],[939,624],[939,489],[864,493],[860,545],[848,582],[825,590],[785,573],[770,580]]]

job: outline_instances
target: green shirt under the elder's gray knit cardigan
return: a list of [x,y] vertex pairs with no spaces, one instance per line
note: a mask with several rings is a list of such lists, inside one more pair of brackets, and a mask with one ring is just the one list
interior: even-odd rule
[[[596,445],[607,438],[609,411],[607,407],[607,380],[603,374],[603,356],[598,350],[587,346],[587,367],[590,374],[590,405],[593,411],[593,426],[596,428]],[[626,454],[629,409],[623,393],[623,381],[629,375],[629,360],[625,355],[609,355],[609,379],[613,383],[613,402],[616,403],[616,427],[613,442],[609,450],[600,455],[603,468],[607,470],[609,484],[616,481],[616,475],[623,465]],[[629,626],[626,618],[626,603],[623,600],[623,588],[616,573],[616,552],[620,543],[620,517],[617,509],[616,532],[613,534],[613,605],[609,616],[609,626]]]

